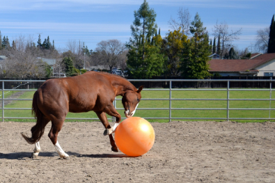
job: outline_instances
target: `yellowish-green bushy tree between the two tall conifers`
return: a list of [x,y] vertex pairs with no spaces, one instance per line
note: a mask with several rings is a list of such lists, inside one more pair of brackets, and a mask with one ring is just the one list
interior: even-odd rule
[[179,76],[181,74],[180,54],[182,49],[184,49],[183,45],[185,42],[187,42],[187,35],[184,35],[181,29],[170,31],[163,40],[162,52],[166,56],[165,68],[170,76]]

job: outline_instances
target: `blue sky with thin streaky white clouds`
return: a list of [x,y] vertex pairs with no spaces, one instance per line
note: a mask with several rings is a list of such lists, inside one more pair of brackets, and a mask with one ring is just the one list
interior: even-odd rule
[[[275,13],[274,0],[147,0],[157,14],[156,23],[165,36],[172,30],[168,21],[178,18],[180,7],[188,8],[191,20],[200,15],[203,26],[212,36],[217,22],[226,22],[228,30],[242,29],[238,49],[250,47],[259,29],[270,26]],[[134,10],[143,0],[0,0],[0,31],[10,43],[19,35],[42,42],[47,36],[55,47],[66,51],[69,40],[84,42],[88,49],[102,40],[117,39],[125,43],[131,37]]]

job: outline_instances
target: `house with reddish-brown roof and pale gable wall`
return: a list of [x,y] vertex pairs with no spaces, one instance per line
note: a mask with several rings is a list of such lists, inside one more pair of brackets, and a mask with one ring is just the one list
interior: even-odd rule
[[275,53],[274,54],[251,54],[249,60],[220,60],[209,61],[212,74],[228,76],[275,76]]

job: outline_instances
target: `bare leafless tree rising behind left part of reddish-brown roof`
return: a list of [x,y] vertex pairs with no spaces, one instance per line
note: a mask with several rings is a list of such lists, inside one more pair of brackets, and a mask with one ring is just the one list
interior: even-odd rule
[[226,53],[230,47],[232,47],[232,42],[239,39],[239,35],[242,34],[242,28],[237,31],[228,30],[228,24],[226,22],[219,23],[217,21],[214,25],[213,35],[218,38],[220,36],[221,42],[221,56]]

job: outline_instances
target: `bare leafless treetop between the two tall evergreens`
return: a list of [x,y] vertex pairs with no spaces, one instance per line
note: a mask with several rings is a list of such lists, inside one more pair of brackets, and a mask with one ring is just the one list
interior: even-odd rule
[[190,35],[191,14],[188,8],[180,7],[178,10],[178,21],[171,17],[168,24],[173,30],[178,31],[181,28],[184,35]]

